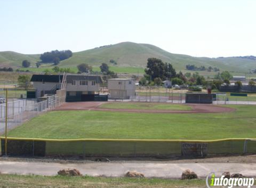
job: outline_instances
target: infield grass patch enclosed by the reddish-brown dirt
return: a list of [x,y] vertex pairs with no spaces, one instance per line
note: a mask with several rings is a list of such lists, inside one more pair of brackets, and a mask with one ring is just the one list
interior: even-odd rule
[[110,109],[139,109],[139,110],[192,110],[187,105],[158,104],[155,102],[112,102],[99,106]]

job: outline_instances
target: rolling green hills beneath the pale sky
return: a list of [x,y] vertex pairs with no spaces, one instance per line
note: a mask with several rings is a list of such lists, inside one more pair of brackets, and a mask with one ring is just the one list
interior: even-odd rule
[[[0,52],[0,66],[21,66],[21,61],[29,60],[32,65],[39,61],[39,54],[26,55],[16,52]],[[145,67],[147,58],[156,57],[164,62],[171,63],[177,70],[184,70],[185,65],[194,64],[196,66],[204,65],[206,67],[218,67],[222,70],[235,72],[248,72],[249,69],[256,68],[256,60],[247,57],[192,57],[182,54],[169,53],[154,45],[137,44],[132,42],[122,42],[115,45],[106,45],[99,48],[88,49],[73,53],[69,59],[61,61],[61,67],[76,67],[80,63],[88,63],[92,66],[109,63],[110,59],[117,61],[122,67]]]

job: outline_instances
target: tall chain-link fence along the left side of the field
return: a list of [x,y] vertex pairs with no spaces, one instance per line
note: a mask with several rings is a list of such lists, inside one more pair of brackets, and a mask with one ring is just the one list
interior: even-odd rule
[[[8,100],[7,118],[8,130],[13,129],[25,121],[46,112],[65,102],[65,90],[57,90],[54,95],[46,95],[43,101],[37,102],[34,99]],[[6,104],[0,104],[0,134],[5,130]]]

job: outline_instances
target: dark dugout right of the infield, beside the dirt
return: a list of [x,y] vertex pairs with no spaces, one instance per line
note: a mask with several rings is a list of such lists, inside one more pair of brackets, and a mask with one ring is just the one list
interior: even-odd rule
[[186,103],[212,104],[215,99],[216,94],[186,93]]

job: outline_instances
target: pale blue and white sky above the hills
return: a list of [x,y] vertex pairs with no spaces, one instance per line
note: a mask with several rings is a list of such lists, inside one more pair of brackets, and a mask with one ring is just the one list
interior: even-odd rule
[[256,0],[0,0],[0,51],[124,41],[196,57],[256,55]]

